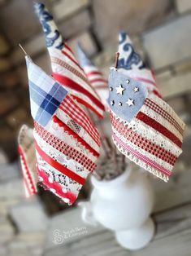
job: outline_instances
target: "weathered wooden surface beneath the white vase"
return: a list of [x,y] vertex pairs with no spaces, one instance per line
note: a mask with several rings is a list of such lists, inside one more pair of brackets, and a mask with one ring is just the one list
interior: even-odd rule
[[[182,160],[184,161],[184,159]],[[81,210],[67,210],[54,216],[47,232],[45,256],[191,256],[191,169],[177,164],[176,173],[169,183],[152,179],[155,190],[155,206],[152,217],[156,233],[150,245],[136,252],[121,248],[112,232],[105,228],[90,227],[80,218]],[[72,228],[84,228],[85,234],[67,237],[61,245],[52,241],[54,231],[72,232]]]

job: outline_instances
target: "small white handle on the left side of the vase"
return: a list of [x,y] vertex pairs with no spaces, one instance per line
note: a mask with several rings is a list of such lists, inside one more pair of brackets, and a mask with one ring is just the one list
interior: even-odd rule
[[92,205],[89,201],[81,201],[78,205],[82,208],[81,218],[85,223],[92,226],[97,226],[98,221],[93,215]]

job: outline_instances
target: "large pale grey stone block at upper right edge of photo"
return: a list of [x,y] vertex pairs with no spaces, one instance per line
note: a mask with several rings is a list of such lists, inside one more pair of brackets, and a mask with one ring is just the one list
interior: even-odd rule
[[144,34],[144,46],[154,68],[162,68],[191,56],[190,23],[191,15],[184,15]]

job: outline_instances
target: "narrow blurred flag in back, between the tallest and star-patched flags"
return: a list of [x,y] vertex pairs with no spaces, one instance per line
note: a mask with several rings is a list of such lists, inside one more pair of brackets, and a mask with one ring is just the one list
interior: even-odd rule
[[108,109],[108,81],[104,78],[102,72],[100,72],[92,61],[89,60],[85,51],[79,44],[77,46],[77,53],[80,66],[84,69],[90,85],[94,88],[94,90],[96,90],[100,99],[102,100],[102,104],[104,104],[105,108]]

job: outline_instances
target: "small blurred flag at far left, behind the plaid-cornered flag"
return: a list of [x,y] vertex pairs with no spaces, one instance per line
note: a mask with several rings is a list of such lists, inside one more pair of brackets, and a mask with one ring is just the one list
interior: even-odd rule
[[25,125],[22,126],[18,138],[18,151],[20,153],[24,191],[27,197],[37,193],[37,158],[33,142],[33,129]]

